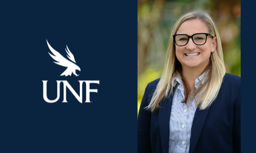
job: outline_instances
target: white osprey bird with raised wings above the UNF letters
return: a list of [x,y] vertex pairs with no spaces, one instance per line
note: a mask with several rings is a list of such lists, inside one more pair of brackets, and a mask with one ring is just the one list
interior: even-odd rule
[[[47,39],[46,39],[46,41],[47,41]],[[76,74],[76,70],[81,71],[81,70],[80,70],[80,67],[75,64],[76,61],[75,61],[74,55],[70,52],[70,50],[69,50],[69,48],[68,48],[68,45],[67,45],[68,51],[67,51],[67,49],[65,48],[65,50],[66,50],[66,52],[67,52],[67,54],[68,54],[67,57],[68,57],[71,61],[73,61],[74,63],[71,62],[71,61],[69,61],[69,60],[67,60],[67,59],[64,58],[62,55],[60,55],[55,49],[52,48],[52,46],[48,43],[48,41],[47,41],[47,44],[48,44],[48,47],[50,48],[51,52],[53,53],[53,55],[51,55],[51,54],[48,52],[49,55],[50,55],[55,61],[57,61],[57,62],[54,62],[54,63],[56,63],[56,64],[58,64],[58,65],[60,65],[60,66],[68,67],[62,74],[60,74],[60,76],[65,75],[65,77],[67,77],[68,75],[71,76],[72,73],[73,73],[74,75],[76,75],[76,77],[79,76],[79,75]]]

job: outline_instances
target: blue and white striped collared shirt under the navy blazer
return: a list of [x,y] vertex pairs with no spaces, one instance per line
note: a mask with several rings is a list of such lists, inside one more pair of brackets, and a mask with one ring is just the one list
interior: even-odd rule
[[[196,88],[199,87],[203,77],[204,74],[196,79]],[[184,100],[184,88],[179,77],[176,78],[173,86],[176,86],[176,89],[174,91],[172,111],[170,112],[169,153],[188,152],[191,126],[197,109],[196,101],[190,99],[188,107],[185,103],[181,103]]]

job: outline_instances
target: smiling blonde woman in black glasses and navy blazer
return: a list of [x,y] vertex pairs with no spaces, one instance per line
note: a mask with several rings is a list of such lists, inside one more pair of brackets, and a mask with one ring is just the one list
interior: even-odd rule
[[204,12],[174,25],[161,79],[138,116],[138,152],[240,152],[240,77],[225,73],[221,40]]

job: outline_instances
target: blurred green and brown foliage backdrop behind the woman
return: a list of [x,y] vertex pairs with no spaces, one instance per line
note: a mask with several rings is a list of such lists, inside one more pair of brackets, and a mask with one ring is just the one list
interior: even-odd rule
[[241,1],[138,1],[138,112],[145,87],[161,77],[165,52],[176,20],[184,13],[204,10],[214,18],[226,72],[241,76]]

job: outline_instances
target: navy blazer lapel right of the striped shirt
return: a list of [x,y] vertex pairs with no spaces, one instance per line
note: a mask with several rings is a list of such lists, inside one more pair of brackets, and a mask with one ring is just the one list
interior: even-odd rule
[[195,112],[192,127],[191,127],[189,153],[193,153],[196,148],[196,145],[200,137],[201,131],[203,129],[203,125],[208,115],[209,109],[210,107],[206,110],[200,111],[199,108],[197,108]]

